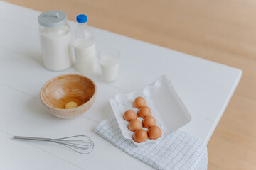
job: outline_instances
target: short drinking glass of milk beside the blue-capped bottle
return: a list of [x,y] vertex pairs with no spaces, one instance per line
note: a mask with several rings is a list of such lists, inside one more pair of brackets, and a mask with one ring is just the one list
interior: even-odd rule
[[119,52],[114,49],[101,50],[98,54],[102,79],[108,82],[117,79],[119,68]]

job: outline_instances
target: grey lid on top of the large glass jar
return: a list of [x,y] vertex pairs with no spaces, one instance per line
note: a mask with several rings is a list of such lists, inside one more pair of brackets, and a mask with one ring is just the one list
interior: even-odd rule
[[63,11],[46,11],[38,16],[38,22],[41,26],[56,27],[65,24],[67,21],[67,14]]

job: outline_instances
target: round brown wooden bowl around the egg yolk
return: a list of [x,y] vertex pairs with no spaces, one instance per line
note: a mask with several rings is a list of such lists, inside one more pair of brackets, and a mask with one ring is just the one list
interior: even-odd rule
[[[58,118],[75,118],[94,103],[96,84],[80,74],[64,74],[46,82],[40,98],[51,114]],[[70,101],[78,103],[78,107],[65,109],[65,104]]]

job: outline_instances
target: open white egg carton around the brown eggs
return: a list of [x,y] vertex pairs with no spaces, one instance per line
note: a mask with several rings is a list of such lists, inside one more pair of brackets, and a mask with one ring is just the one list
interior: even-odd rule
[[[128,122],[124,120],[123,115],[129,109],[137,113],[138,109],[133,108],[132,103],[139,96],[145,98],[147,106],[151,108],[152,116],[156,119],[156,125],[161,128],[161,137],[164,134],[171,134],[191,121],[191,115],[171,85],[171,81],[166,76],[161,76],[152,84],[145,86],[143,91],[116,94],[114,99],[110,98],[110,105],[125,139],[132,140],[133,132],[127,128]],[[138,120],[142,121],[143,119],[138,118]],[[144,130],[147,129],[144,128]],[[158,142],[161,137],[156,140],[147,139],[143,143],[137,143],[134,140],[132,142],[134,145],[142,146],[148,142]]]

